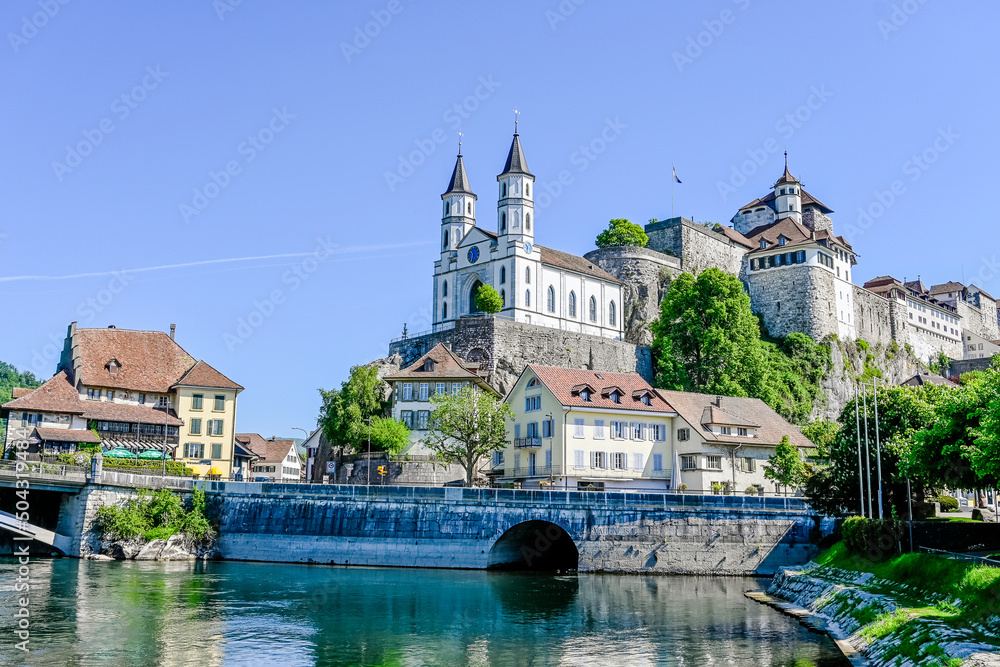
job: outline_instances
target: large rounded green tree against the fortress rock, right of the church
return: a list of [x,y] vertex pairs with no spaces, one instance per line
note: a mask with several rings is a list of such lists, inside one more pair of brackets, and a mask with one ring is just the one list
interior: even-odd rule
[[697,278],[682,273],[670,284],[651,329],[659,386],[728,396],[767,395],[760,329],[736,276],[717,268]]

